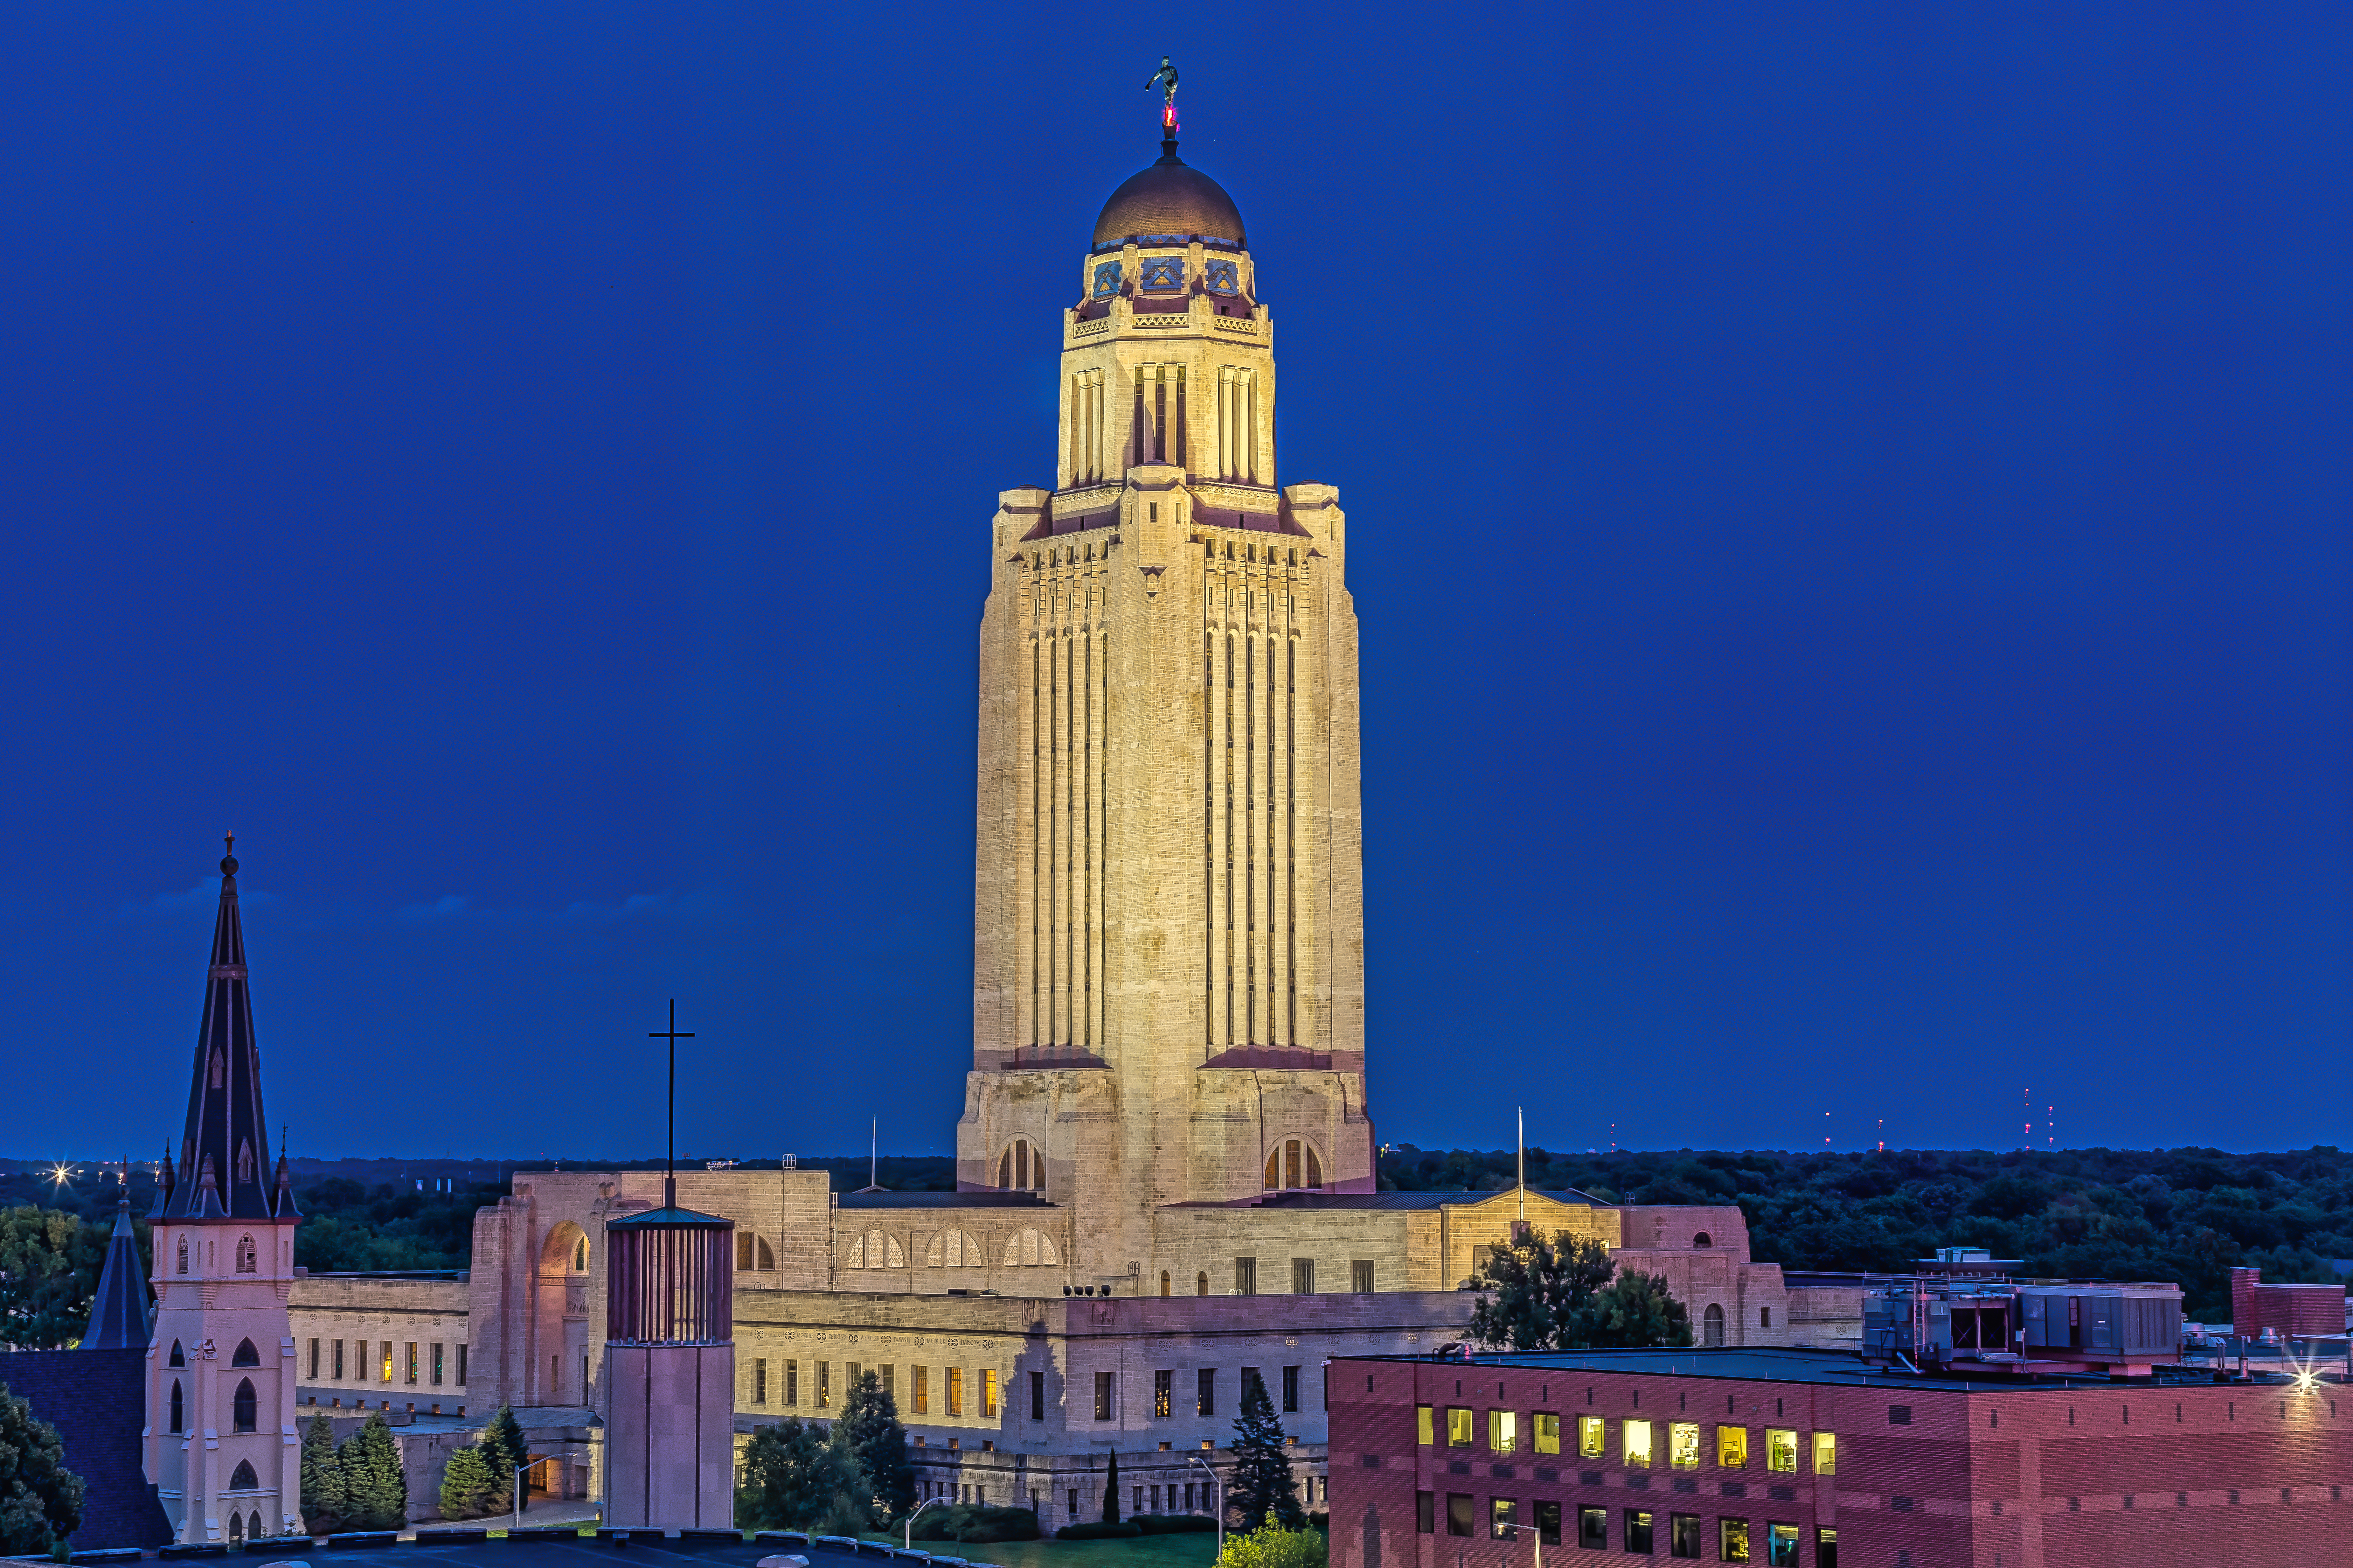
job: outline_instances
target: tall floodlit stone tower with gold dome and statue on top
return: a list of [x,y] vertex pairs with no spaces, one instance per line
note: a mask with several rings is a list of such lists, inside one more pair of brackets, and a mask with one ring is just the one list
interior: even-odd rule
[[1162,1206],[1374,1187],[1346,517],[1278,477],[1273,313],[1165,75],[1061,310],[1054,487],[988,524],[958,1124],[960,1187],[1071,1206],[1122,1293]]

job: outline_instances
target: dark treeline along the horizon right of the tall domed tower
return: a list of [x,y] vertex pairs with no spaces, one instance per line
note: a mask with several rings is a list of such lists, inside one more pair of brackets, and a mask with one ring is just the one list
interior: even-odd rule
[[[1388,1192],[1499,1192],[1513,1150],[1395,1147]],[[1527,1152],[1527,1185],[1605,1204],[1739,1204],[1760,1262],[1906,1269],[1981,1246],[2052,1279],[2172,1279],[2191,1319],[2231,1314],[2231,1269],[2341,1279],[2353,1157],[2221,1150]]]

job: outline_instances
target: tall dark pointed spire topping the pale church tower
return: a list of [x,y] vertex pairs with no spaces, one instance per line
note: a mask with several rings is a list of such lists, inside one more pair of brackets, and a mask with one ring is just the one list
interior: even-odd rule
[[[238,835],[228,835],[235,851]],[[271,1147],[261,1119],[261,1053],[254,1006],[245,990],[245,926],[238,922],[238,858],[221,856],[221,912],[212,926],[205,1020],[195,1030],[195,1077],[188,1128],[179,1143],[179,1180],[165,1197],[167,1220],[266,1220]]]

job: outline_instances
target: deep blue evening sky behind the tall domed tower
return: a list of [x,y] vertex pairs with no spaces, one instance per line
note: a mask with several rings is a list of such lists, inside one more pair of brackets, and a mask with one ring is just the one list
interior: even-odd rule
[[[2341,5],[0,12],[0,1152],[946,1150],[974,635],[1101,197],[1249,219],[1372,1107],[2344,1143]],[[2318,1088],[2299,1088],[2313,1077]]]

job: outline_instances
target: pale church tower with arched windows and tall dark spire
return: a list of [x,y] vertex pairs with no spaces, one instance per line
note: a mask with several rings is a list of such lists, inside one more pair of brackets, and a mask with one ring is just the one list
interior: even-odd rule
[[271,1171],[233,853],[221,856],[188,1121],[176,1157],[165,1161],[151,1220],[158,1309],[146,1474],[174,1537],[231,1542],[296,1530],[301,1450],[287,1293],[301,1211],[285,1154]]

